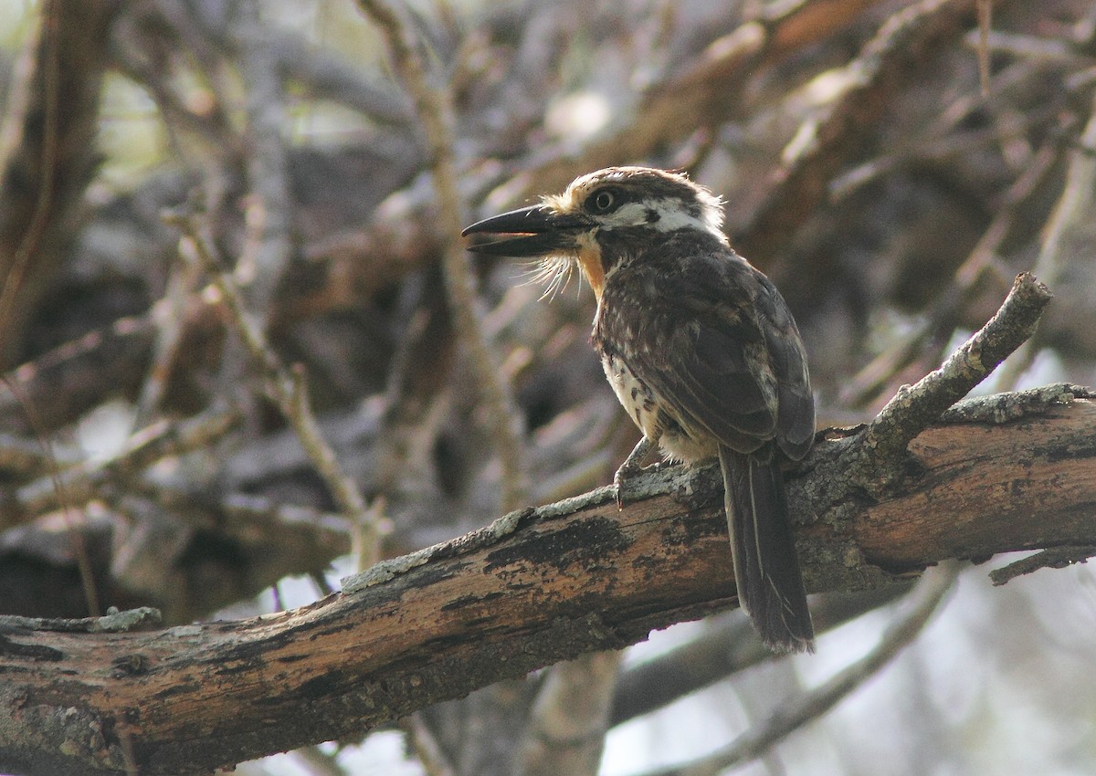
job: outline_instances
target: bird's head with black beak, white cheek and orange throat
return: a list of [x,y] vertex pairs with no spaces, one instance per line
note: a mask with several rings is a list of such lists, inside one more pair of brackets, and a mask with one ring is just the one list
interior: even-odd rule
[[491,235],[470,250],[541,260],[549,292],[578,264],[601,298],[606,278],[653,240],[693,229],[726,244],[718,196],[685,174],[647,167],[610,167],[575,179],[562,194],[472,224],[461,235]]

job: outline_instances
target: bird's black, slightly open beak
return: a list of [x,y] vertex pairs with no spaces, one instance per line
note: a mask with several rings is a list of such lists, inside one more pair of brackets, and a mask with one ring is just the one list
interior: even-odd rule
[[492,235],[472,242],[468,250],[495,256],[544,256],[578,248],[575,238],[585,225],[575,216],[561,216],[544,205],[510,210],[465,227],[461,237]]

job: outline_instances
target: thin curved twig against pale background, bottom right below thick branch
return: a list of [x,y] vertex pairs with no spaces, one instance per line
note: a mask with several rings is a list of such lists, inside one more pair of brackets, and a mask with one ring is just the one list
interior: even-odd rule
[[903,602],[907,607],[905,612],[890,624],[879,643],[867,655],[777,709],[765,722],[746,731],[727,748],[703,760],[647,776],[716,776],[727,768],[762,756],[780,740],[832,709],[909,647],[951,590],[959,568],[960,563],[952,561],[928,569]]

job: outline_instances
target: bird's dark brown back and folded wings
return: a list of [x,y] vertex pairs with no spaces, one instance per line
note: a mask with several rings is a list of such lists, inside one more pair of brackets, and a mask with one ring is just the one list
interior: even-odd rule
[[729,250],[620,273],[603,309],[628,304],[615,296],[643,299],[644,309],[638,323],[626,326],[623,313],[603,324],[630,351],[632,370],[683,420],[732,449],[751,453],[777,440],[789,457],[802,457],[814,404],[799,332],[773,284]]

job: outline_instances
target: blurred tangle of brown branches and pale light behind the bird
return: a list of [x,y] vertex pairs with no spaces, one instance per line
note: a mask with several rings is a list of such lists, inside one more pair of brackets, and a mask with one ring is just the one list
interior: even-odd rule
[[[984,41],[959,0],[397,10],[452,105],[465,222],[598,167],[687,169],[796,312],[822,424],[870,418],[1026,270],[1055,300],[982,389],[1094,383],[1092,2],[996,0]],[[361,9],[8,0],[0,43],[0,612],[242,616],[354,569],[355,526],[165,208],[199,214],[273,351],[302,365],[326,436],[383,515],[385,556],[501,514],[441,269],[458,237],[438,228],[414,103]],[[522,266],[473,269],[529,501],[607,482],[637,432],[587,343],[592,294],[572,282],[547,304]],[[690,647],[740,649],[739,613],[654,635],[597,691],[617,693],[601,773],[734,739],[868,651],[900,592],[820,596],[832,629],[818,654],[717,663],[704,689],[683,677],[712,651]],[[1094,637],[1087,567],[1004,589],[974,567],[894,664],[741,772],[1091,774]],[[514,773],[548,673],[239,772],[445,773],[426,737],[450,773]],[[626,689],[670,703],[629,710]]]

